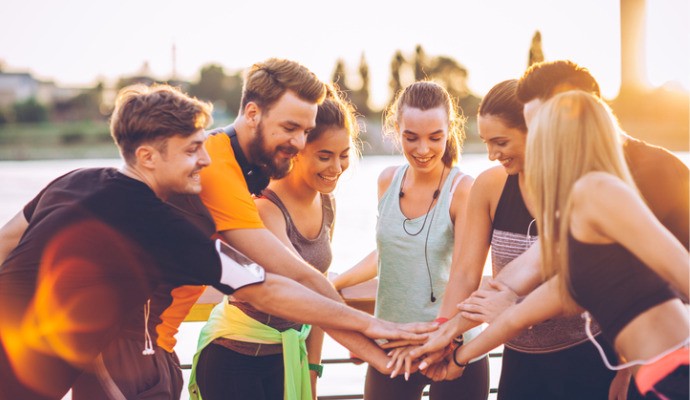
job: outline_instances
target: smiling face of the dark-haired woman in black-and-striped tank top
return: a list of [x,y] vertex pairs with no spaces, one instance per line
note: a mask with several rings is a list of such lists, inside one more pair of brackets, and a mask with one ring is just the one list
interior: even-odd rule
[[522,172],[525,166],[527,134],[517,128],[509,128],[494,115],[477,118],[479,137],[486,145],[491,161],[498,160],[508,175]]

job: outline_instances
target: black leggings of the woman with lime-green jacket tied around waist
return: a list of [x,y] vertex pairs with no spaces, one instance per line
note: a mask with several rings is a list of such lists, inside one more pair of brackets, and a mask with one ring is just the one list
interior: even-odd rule
[[283,400],[283,355],[246,356],[211,343],[199,354],[196,382],[204,400]]

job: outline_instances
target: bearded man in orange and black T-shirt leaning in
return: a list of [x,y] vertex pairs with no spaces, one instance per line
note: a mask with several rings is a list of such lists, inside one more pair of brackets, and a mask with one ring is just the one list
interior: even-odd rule
[[[282,178],[290,171],[293,157],[304,148],[309,131],[316,125],[318,104],[326,92],[323,82],[294,61],[268,59],[254,64],[245,76],[239,116],[232,125],[212,132],[206,141],[213,162],[201,172],[199,197],[177,198],[172,203],[201,225],[215,224],[217,236],[266,271],[342,301],[324,275],[290,251],[264,226],[252,199],[252,194],[260,194],[269,179]],[[204,217],[209,213],[212,223]],[[186,315],[200,295],[199,290],[189,287],[185,293],[181,290],[173,293],[175,303],[168,314]],[[168,329],[175,323],[166,326],[159,329],[159,343],[175,333],[174,329]],[[326,332],[362,355],[377,370],[390,373],[389,358],[371,340],[352,331],[327,329]],[[174,339],[169,341],[174,343]],[[220,345],[231,350],[241,346],[233,342],[224,341]]]

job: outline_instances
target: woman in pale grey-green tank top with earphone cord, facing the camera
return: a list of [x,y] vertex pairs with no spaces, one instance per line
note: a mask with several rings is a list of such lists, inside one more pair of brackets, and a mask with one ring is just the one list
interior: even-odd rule
[[[389,167],[379,176],[377,250],[334,281],[336,289],[342,289],[378,275],[378,318],[413,322],[437,316],[457,259],[473,181],[454,166],[464,138],[455,107],[438,84],[416,82],[387,110],[385,130],[400,141],[408,164]],[[468,284],[476,288],[479,280]],[[410,349],[393,350],[389,365]],[[389,377],[370,366],[364,398],[419,400],[430,384],[432,400],[486,399],[488,360],[475,361],[464,376],[440,382],[422,373]]]

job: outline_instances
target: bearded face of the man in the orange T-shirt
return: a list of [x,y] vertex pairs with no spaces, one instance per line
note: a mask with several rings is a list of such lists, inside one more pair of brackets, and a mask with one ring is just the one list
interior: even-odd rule
[[259,114],[255,136],[248,146],[250,161],[271,178],[284,177],[316,124],[316,111],[316,104],[285,92],[270,109]]

